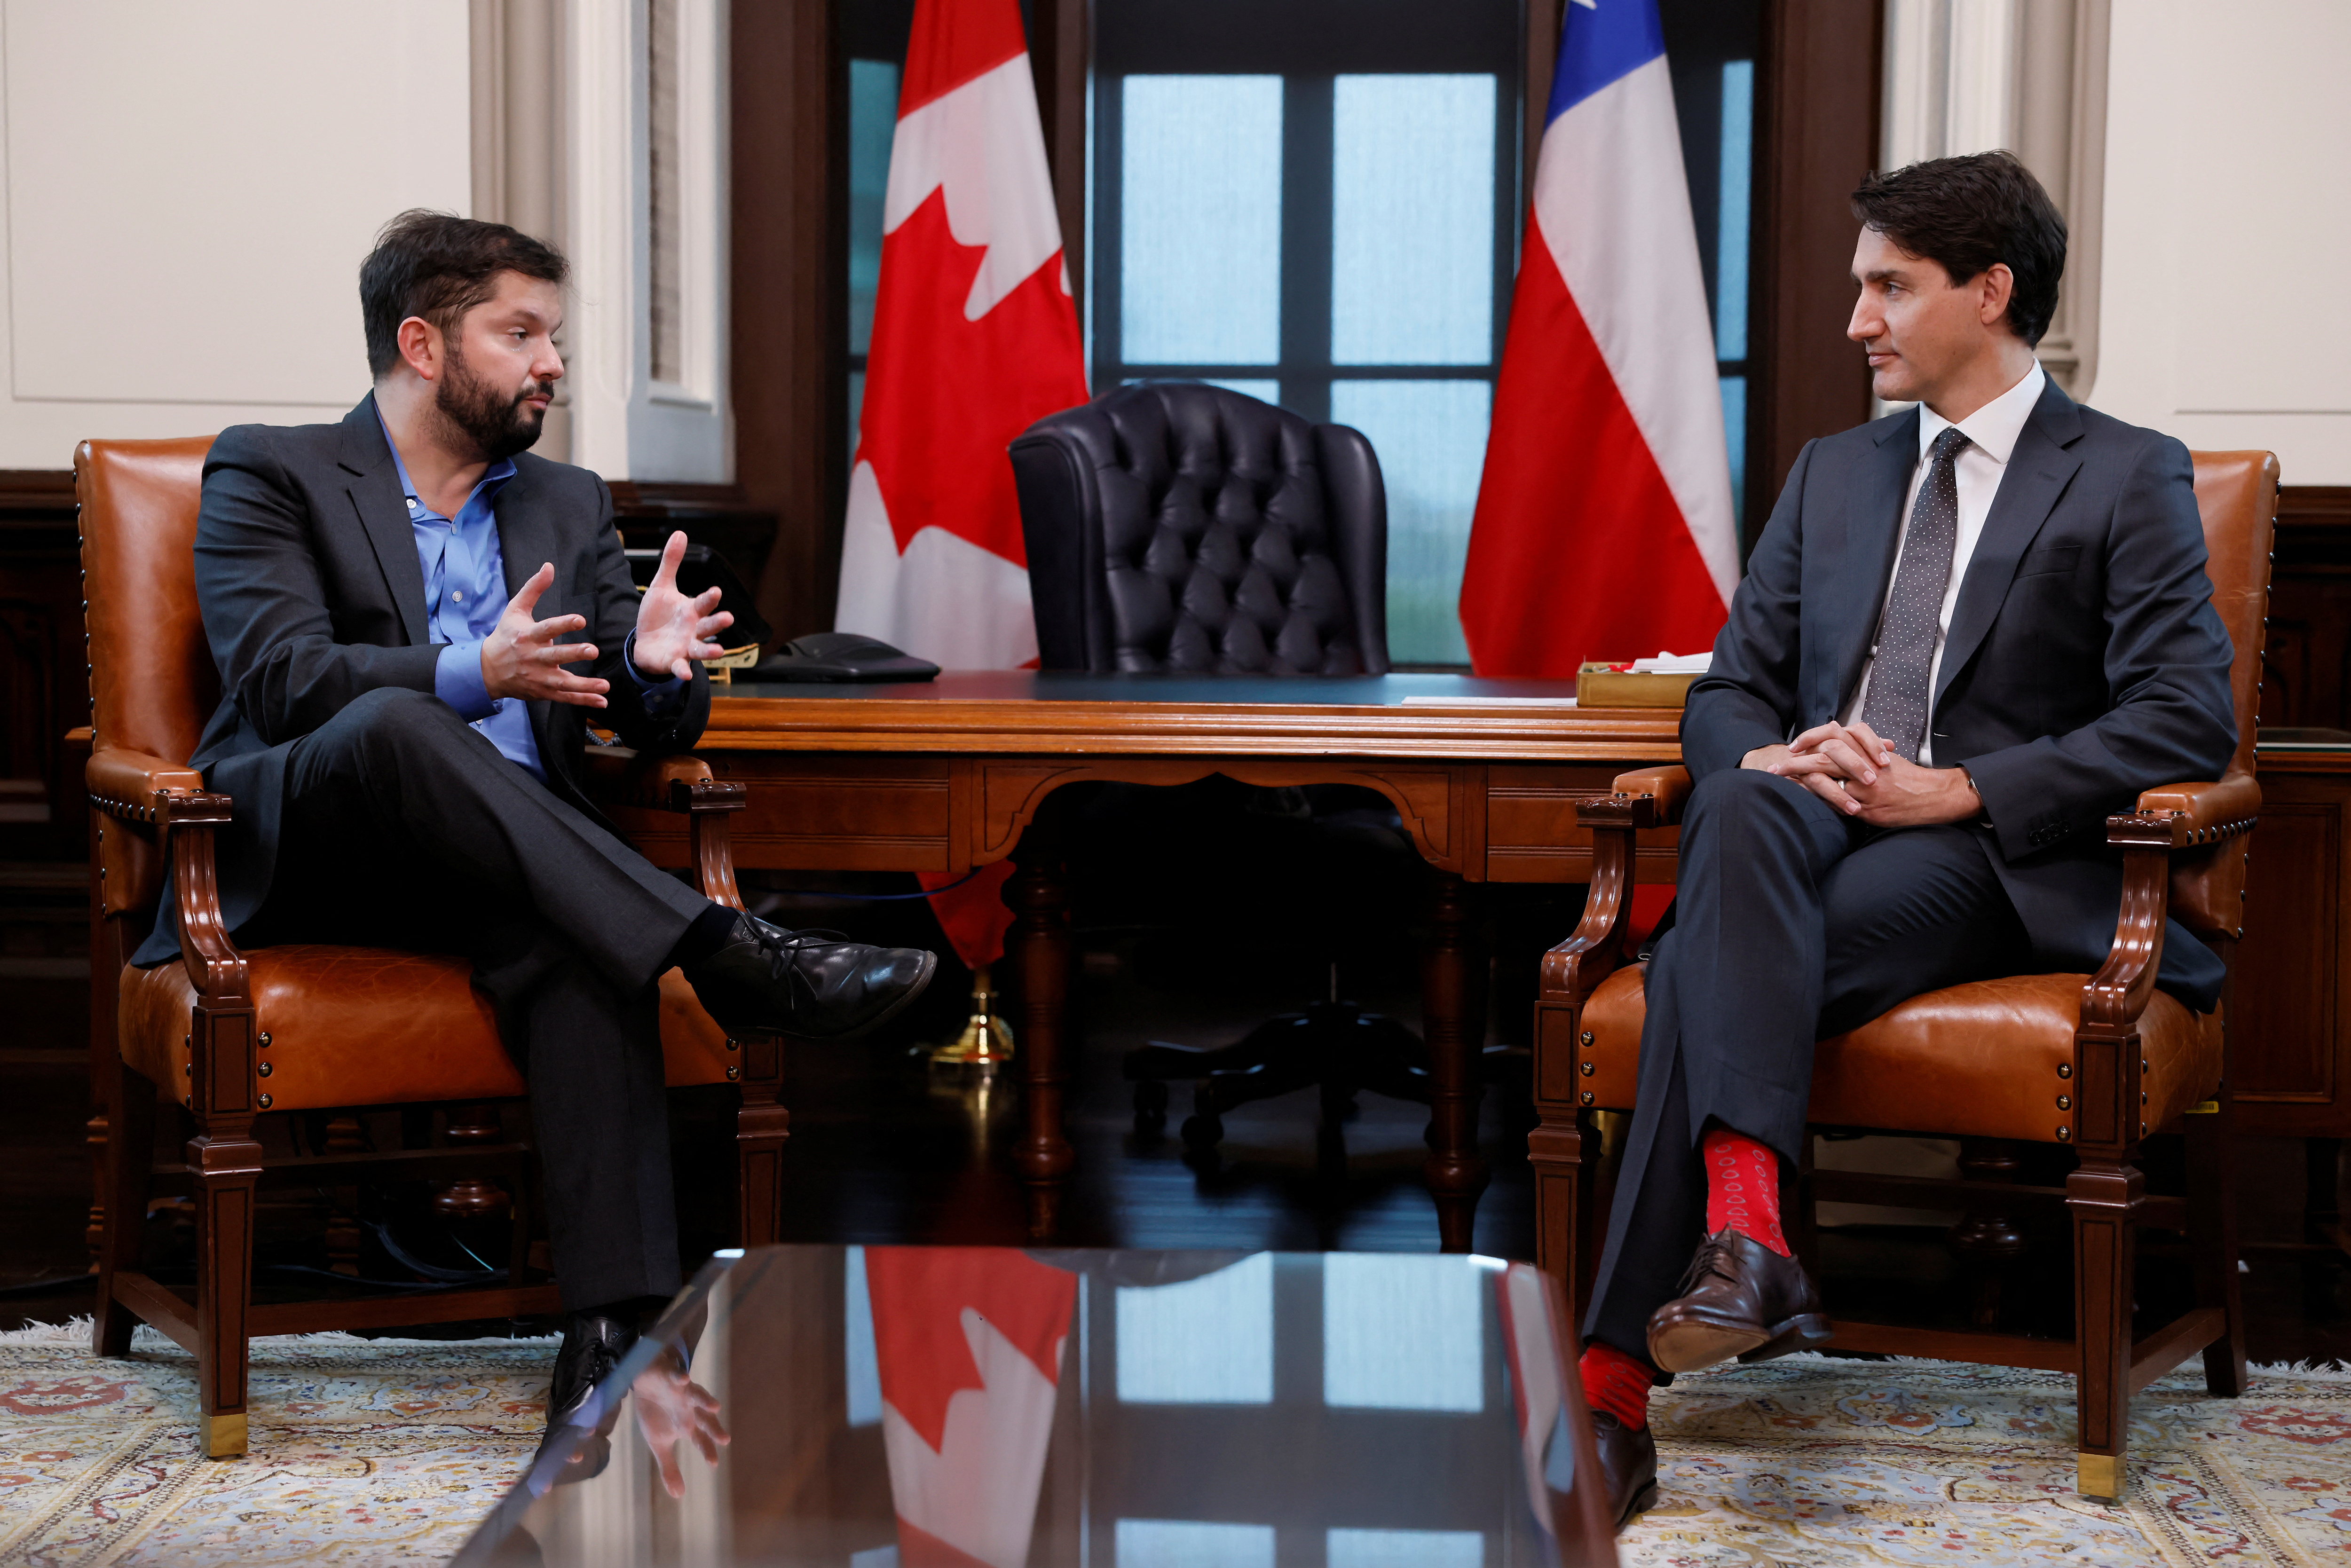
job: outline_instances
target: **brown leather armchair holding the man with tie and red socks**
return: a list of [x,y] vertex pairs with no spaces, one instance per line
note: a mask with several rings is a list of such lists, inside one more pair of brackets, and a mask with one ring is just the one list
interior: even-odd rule
[[[2165,914],[2179,917],[2224,964],[2243,936],[2245,849],[2262,806],[2252,741],[2278,461],[2266,451],[2198,451],[2193,461],[2212,607],[2236,644],[2238,745],[2226,776],[2146,790],[2135,811],[2106,818],[2106,842],[2123,853],[2123,905],[2114,947],[2095,976],[2015,976],[1928,992],[1820,1041],[1813,1063],[1815,1126],[1961,1138],[1970,1150],[1963,1171],[1980,1173],[2012,1171],[2015,1159],[2003,1150],[2017,1143],[2059,1143],[2074,1147],[2074,1173],[2062,1190],[2036,1190],[1806,1171],[1794,1206],[1803,1246],[1815,1197],[1968,1208],[1970,1220],[2062,1201],[2074,1222],[2074,1340],[1994,1333],[1991,1314],[1980,1312],[1975,1331],[1836,1321],[1834,1345],[2074,1373],[2078,1483],[2092,1497],[2123,1490],[2132,1392],[2196,1352],[2215,1394],[2236,1394],[2245,1382],[2229,1166],[2229,992],[2219,1011],[2198,1018],[2156,990],[2156,964]],[[1538,1255],[1568,1284],[1570,1305],[1589,1286],[1599,1244],[1594,1112],[1632,1107],[1641,1060],[1646,966],[1627,961],[1634,842],[1643,830],[1679,825],[1688,795],[1688,771],[1643,769],[1578,809],[1578,823],[1592,832],[1592,889],[1575,933],[1542,959],[1540,1126],[1528,1154]],[[2139,1140],[2161,1131],[2186,1133],[2186,1199],[2144,1190]],[[2139,1225],[2186,1232],[2196,1305],[2132,1342]]]

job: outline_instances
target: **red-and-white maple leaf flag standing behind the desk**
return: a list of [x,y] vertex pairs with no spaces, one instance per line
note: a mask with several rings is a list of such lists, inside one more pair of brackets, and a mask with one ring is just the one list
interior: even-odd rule
[[[917,0],[835,625],[950,670],[1037,663],[1006,447],[1079,402],[1086,353],[1020,0]],[[971,966],[1004,952],[1009,875],[1006,860],[931,900]]]

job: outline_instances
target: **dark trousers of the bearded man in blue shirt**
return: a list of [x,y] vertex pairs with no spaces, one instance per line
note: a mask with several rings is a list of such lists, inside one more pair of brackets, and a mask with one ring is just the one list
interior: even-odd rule
[[677,1288],[656,980],[701,893],[440,698],[369,691],[294,743],[252,945],[456,952],[531,1084],[567,1307]]

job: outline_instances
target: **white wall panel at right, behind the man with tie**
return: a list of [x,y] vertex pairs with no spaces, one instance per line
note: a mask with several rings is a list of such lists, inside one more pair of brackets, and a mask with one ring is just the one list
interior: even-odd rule
[[2351,484],[2346,66],[2342,0],[2114,7],[2099,409]]

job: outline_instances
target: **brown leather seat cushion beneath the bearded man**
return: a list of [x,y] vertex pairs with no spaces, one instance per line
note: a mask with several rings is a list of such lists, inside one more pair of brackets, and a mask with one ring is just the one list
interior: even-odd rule
[[[254,1027],[268,1032],[270,1110],[508,1100],[527,1088],[465,959],[289,943],[245,954]],[[122,971],[122,1060],[181,1098],[195,987],[176,959]],[[724,1084],[726,1032],[675,969],[661,976],[663,1081]]]

